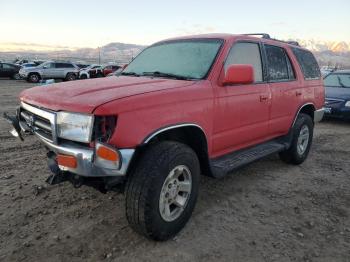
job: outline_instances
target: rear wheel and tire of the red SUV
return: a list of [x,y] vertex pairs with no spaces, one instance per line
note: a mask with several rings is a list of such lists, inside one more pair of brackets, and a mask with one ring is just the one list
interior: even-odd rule
[[289,164],[300,165],[307,158],[312,144],[314,123],[307,114],[300,113],[293,126],[292,142],[280,158]]

